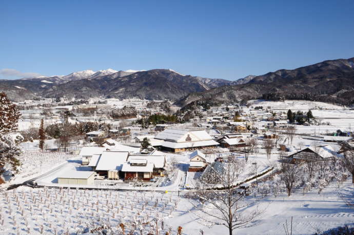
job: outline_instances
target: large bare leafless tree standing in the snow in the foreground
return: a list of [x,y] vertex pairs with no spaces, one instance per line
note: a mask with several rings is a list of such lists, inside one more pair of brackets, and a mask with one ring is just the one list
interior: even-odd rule
[[[215,163],[216,164],[216,163]],[[208,226],[224,225],[229,234],[252,222],[264,210],[258,206],[249,212],[242,211],[253,204],[244,200],[246,194],[235,187],[240,174],[245,169],[245,161],[237,160],[229,155],[222,167],[210,166],[195,184],[191,200],[194,209],[192,212],[199,218],[199,222]],[[216,186],[218,185],[218,188]]]

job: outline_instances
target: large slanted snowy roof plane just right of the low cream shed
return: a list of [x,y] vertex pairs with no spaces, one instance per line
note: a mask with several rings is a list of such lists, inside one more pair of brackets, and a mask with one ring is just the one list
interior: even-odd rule
[[96,170],[121,170],[127,161],[128,152],[104,151],[101,154]]

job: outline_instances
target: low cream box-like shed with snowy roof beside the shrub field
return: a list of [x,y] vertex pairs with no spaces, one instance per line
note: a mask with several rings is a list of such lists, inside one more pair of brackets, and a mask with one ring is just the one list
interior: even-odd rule
[[58,177],[58,184],[93,185],[94,171],[68,171]]

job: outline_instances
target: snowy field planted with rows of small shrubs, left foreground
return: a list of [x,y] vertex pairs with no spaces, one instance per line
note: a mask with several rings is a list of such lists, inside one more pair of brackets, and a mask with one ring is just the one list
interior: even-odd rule
[[[0,234],[161,234],[180,199],[170,193],[19,187],[2,192]],[[141,233],[142,232],[142,233]],[[102,234],[102,233],[101,233]]]

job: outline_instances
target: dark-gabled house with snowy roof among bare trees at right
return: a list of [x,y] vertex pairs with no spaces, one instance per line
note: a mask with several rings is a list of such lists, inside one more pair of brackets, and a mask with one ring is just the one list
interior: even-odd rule
[[288,156],[293,162],[331,160],[337,155],[330,145],[310,146]]

